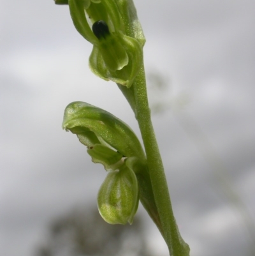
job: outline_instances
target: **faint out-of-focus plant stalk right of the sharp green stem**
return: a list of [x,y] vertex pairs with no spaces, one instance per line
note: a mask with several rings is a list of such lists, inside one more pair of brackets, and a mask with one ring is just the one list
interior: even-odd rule
[[186,92],[181,92],[177,95],[173,93],[171,88],[171,80],[168,81],[163,74],[152,71],[147,73],[148,87],[150,97],[150,109],[152,114],[163,114],[163,112],[171,111],[176,121],[187,133],[189,138],[193,140],[194,145],[198,148],[203,158],[207,161],[212,169],[211,182],[214,184],[217,193],[226,197],[228,204],[233,209],[233,212],[240,215],[242,225],[247,234],[247,255],[255,255],[255,223],[254,218],[247,208],[244,199],[237,190],[233,180],[231,179],[231,169],[222,156],[215,151],[213,144],[210,142],[210,137],[203,132],[200,124],[188,114],[185,110],[192,102],[192,97]]

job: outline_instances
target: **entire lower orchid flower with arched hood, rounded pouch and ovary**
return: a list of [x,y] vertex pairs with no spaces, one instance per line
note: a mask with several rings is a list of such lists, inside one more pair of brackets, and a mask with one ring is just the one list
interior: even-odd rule
[[[64,111],[62,128],[76,134],[80,142],[87,146],[87,153],[91,156],[92,162],[101,163],[105,170],[110,172],[100,190],[105,191],[107,187],[108,193],[106,195],[108,196],[101,196],[101,203],[98,203],[98,205],[102,206],[101,215],[103,218],[109,223],[131,223],[131,219],[133,219],[131,216],[135,215],[136,209],[133,208],[136,206],[136,199],[134,197],[137,197],[136,192],[132,192],[132,189],[136,190],[136,183],[138,183],[139,199],[154,219],[154,222],[161,227],[150,184],[145,153],[128,124],[109,112],[94,107],[89,103],[73,102]],[[124,169],[125,171],[123,171]],[[127,193],[129,195],[125,192],[123,200],[120,198],[118,200],[121,202],[120,204],[124,204],[124,200],[128,200],[125,198],[130,197],[133,203],[131,204],[129,200],[129,204],[126,205],[128,208],[123,206],[121,209],[115,209],[113,207],[114,204],[110,204],[110,201],[112,202],[113,198],[115,198],[112,193],[117,193],[115,185],[122,179],[124,179],[125,184],[129,178],[126,177],[126,174],[124,176],[122,174],[131,172],[131,170],[136,176],[134,178],[133,174],[128,174],[128,176],[132,176],[133,188],[131,189],[130,186],[126,187],[126,185],[121,186],[120,192],[124,193],[128,190],[129,192]],[[113,180],[110,181],[110,179]],[[113,186],[113,184],[115,185]],[[112,188],[113,192],[110,192],[109,186],[114,187]],[[112,217],[107,217],[112,211],[113,213],[110,215]],[[119,220],[120,215],[122,215],[120,212],[123,212],[123,216],[125,216],[121,221]],[[113,216],[118,220],[113,221]]]

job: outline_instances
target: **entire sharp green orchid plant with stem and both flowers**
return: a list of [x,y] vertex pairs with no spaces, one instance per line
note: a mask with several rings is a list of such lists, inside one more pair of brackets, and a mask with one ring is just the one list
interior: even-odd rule
[[117,117],[84,102],[66,107],[62,127],[75,133],[94,163],[108,171],[98,209],[108,223],[132,223],[138,199],[156,223],[171,256],[188,256],[173,216],[163,163],[150,119],[143,45],[145,37],[132,0],[55,0],[68,4],[77,31],[93,49],[92,72],[117,83],[135,113],[143,147]]

